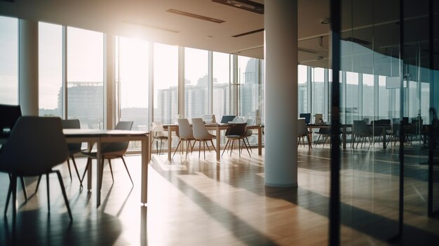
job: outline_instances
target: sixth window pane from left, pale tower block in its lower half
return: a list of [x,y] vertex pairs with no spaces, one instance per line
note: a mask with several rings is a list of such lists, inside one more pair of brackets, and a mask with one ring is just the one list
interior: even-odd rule
[[208,114],[208,51],[184,48],[184,114]]

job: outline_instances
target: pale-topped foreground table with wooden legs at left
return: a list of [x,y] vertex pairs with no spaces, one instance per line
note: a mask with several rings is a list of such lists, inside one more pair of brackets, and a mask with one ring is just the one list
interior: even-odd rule
[[[97,169],[96,172],[96,206],[100,205],[100,182],[99,172],[101,165],[100,146],[103,142],[123,142],[141,141],[142,142],[142,187],[140,192],[140,202],[147,205],[148,202],[148,163],[149,163],[149,136],[147,132],[135,130],[92,130],[92,129],[64,129],[64,135],[68,143],[88,142],[89,146],[96,143],[97,149]],[[91,165],[87,172],[87,188],[91,189]]]

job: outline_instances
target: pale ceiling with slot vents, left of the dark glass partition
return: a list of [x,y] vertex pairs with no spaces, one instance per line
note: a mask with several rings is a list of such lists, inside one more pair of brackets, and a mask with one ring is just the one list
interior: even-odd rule
[[[264,4],[263,0],[252,1]],[[224,22],[191,18],[169,9]],[[264,58],[264,32],[233,37],[263,29],[264,15],[211,0],[1,0],[0,15]],[[327,17],[329,0],[298,0],[301,64],[327,67],[330,25],[320,24]]]

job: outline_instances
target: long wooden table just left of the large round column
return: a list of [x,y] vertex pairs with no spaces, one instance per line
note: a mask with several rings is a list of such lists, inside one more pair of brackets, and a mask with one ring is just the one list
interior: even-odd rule
[[[227,124],[212,124],[212,125],[205,125],[206,128],[208,128],[208,130],[215,130],[215,132],[217,133],[217,160],[219,160],[221,158],[221,155],[219,154],[220,151],[220,146],[221,146],[221,134],[220,132],[222,130],[227,130],[227,128],[229,128],[229,125]],[[168,129],[168,160],[171,160],[171,149],[172,149],[172,140],[173,140],[173,131],[177,131],[178,129],[178,125],[176,124],[168,124],[168,125],[163,125],[163,128]],[[247,127],[247,129],[257,129],[257,154],[259,156],[262,155],[262,126],[261,125],[249,125]]]

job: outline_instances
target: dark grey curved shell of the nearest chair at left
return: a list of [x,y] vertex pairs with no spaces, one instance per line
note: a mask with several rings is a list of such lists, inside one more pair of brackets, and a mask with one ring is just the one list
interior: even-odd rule
[[67,157],[61,118],[22,116],[1,148],[0,170],[39,175],[64,163]]

